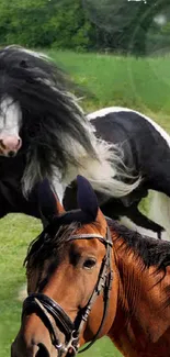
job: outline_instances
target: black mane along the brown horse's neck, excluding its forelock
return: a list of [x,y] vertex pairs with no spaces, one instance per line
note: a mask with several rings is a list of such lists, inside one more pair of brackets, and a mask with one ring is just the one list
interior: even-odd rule
[[170,265],[170,242],[140,235],[113,220],[107,220],[107,224],[118,235],[117,239],[124,239],[127,254],[129,249],[134,250],[147,268],[155,266],[157,270],[166,270]]

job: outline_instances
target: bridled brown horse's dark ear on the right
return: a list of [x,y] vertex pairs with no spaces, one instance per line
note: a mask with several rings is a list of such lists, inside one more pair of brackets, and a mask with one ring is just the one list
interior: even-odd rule
[[99,210],[98,199],[93,191],[90,182],[82,176],[77,176],[77,202],[81,211],[91,215],[92,220],[95,221]]

